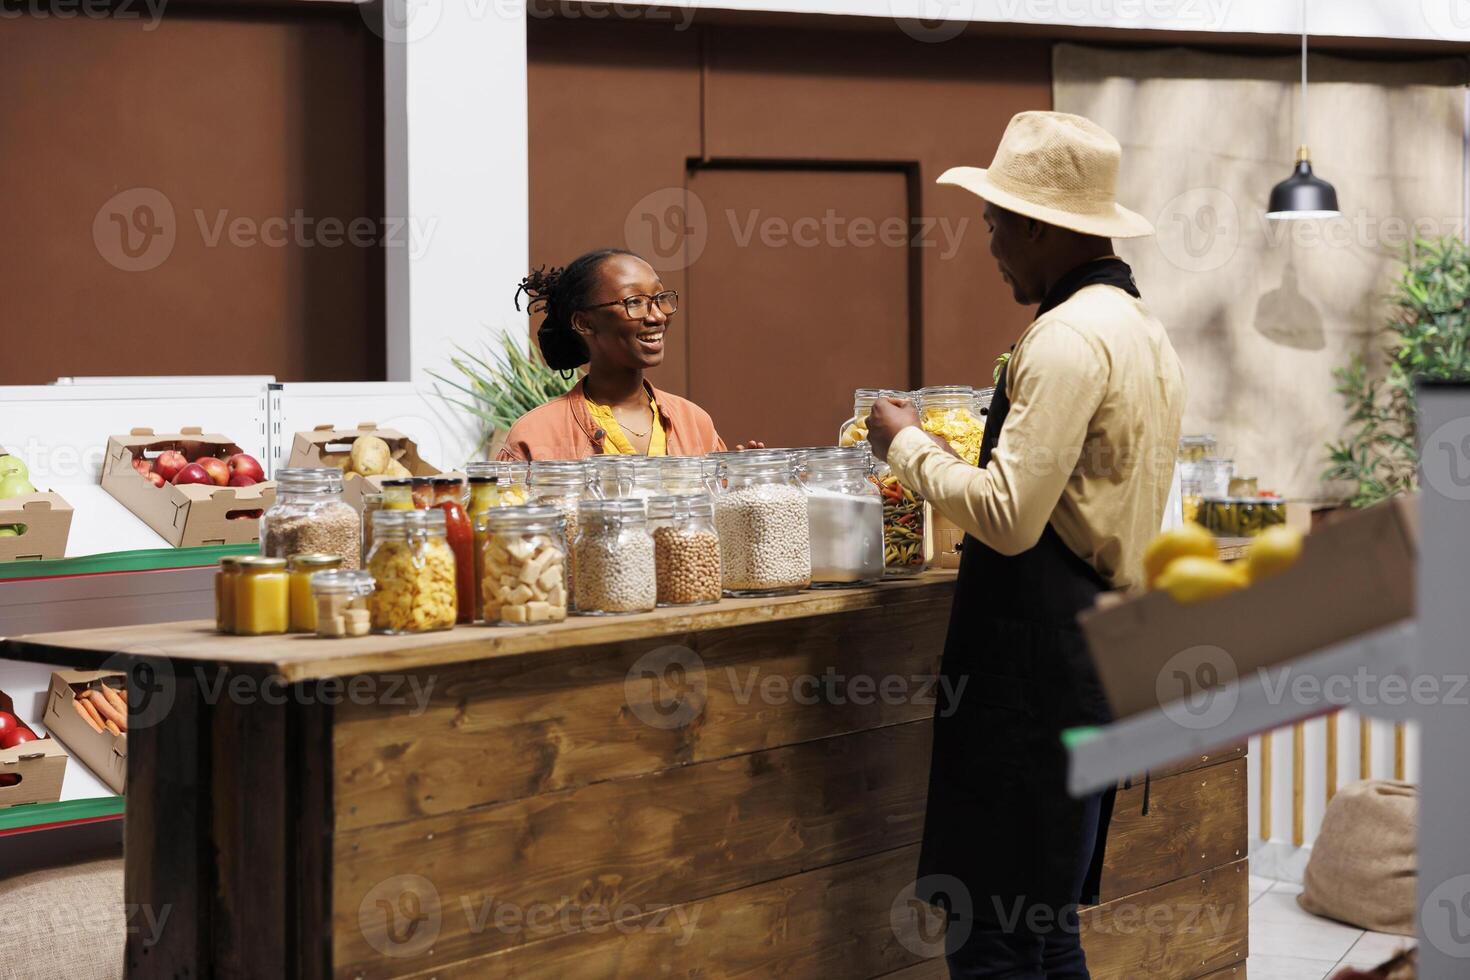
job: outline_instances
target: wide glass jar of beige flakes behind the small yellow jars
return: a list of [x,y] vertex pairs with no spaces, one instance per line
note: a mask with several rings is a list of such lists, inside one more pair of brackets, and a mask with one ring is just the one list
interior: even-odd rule
[[362,564],[362,520],[343,500],[337,469],[276,470],[276,502],[260,516],[260,552],[272,558],[326,552],[344,569]]

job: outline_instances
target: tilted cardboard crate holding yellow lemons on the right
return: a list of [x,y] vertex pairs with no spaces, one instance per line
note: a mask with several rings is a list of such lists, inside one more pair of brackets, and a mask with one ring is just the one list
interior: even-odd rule
[[1241,592],[1191,605],[1108,594],[1080,623],[1114,717],[1163,707],[1160,677],[1180,654],[1217,648],[1244,677],[1411,619],[1417,538],[1417,502],[1395,500],[1323,526],[1297,564]]

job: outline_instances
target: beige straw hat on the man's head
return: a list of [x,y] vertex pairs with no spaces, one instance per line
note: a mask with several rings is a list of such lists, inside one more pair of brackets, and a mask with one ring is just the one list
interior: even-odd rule
[[1064,112],[1011,116],[991,167],[956,166],[953,184],[1048,225],[1104,238],[1142,238],[1154,226],[1117,203],[1117,140],[1091,119]]

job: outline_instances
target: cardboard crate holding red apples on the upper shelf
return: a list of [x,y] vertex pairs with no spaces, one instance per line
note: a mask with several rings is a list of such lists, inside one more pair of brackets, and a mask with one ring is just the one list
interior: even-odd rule
[[[226,436],[204,433],[198,428],[156,435],[153,429],[134,429],[107,439],[101,486],[159,532],[175,548],[198,545],[248,545],[260,541],[256,511],[275,502],[275,483],[254,486],[207,486],[165,483],[154,486],[132,469],[135,457],[153,458],[166,450],[184,455],[226,458],[243,450]],[[234,514],[234,517],[231,516]]]

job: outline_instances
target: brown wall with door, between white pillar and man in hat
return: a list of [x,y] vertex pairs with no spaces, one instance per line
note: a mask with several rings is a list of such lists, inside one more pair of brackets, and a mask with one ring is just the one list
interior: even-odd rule
[[[831,442],[854,386],[989,383],[1029,320],[980,203],[933,179],[1051,106],[1047,43],[532,21],[529,54],[532,262],[650,257],[685,294],[654,381],[726,436]],[[829,213],[814,247],[747,238]]]

